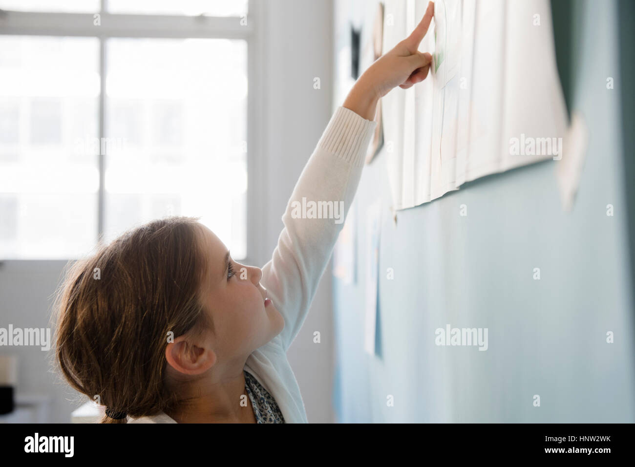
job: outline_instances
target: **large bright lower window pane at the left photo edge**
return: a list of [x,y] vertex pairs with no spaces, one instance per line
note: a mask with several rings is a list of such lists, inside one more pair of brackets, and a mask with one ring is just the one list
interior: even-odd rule
[[0,257],[67,259],[97,240],[99,45],[0,36]]

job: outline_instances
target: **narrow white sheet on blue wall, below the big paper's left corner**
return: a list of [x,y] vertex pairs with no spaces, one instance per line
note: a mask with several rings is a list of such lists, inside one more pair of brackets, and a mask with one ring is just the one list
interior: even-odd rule
[[366,208],[366,306],[364,311],[364,351],[370,353],[370,355],[375,355],[381,219],[381,201],[377,201]]

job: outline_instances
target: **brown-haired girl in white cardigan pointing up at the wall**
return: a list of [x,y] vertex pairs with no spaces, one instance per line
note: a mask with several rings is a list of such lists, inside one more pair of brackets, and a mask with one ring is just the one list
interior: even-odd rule
[[101,423],[307,421],[286,351],[343,224],[297,219],[291,202],[343,201],[345,217],[378,99],[427,76],[431,55],[417,49],[433,8],[331,117],[262,269],[234,261],[190,217],[137,227],[71,267],[56,306],[57,362],[74,389],[106,406]]

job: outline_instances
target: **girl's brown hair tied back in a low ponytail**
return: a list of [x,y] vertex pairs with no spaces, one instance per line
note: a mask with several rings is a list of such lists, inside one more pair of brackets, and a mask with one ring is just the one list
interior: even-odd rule
[[70,386],[135,418],[175,407],[168,332],[213,330],[199,300],[208,266],[199,227],[193,217],[153,220],[72,264],[55,306],[55,356]]

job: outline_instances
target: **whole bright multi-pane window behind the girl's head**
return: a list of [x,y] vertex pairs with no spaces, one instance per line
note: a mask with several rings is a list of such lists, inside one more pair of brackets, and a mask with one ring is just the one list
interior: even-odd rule
[[248,258],[248,2],[0,8],[0,259],[73,259],[166,215]]

